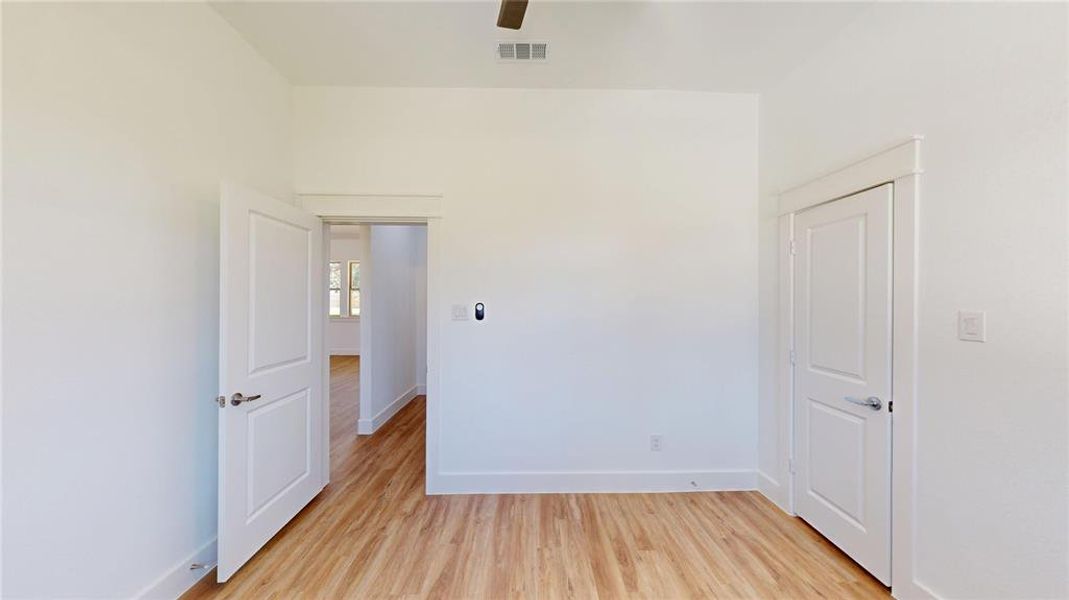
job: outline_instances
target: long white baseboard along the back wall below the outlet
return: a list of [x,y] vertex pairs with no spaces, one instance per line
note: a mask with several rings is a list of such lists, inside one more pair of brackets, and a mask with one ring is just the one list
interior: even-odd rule
[[754,471],[439,473],[431,494],[726,492],[757,489]]

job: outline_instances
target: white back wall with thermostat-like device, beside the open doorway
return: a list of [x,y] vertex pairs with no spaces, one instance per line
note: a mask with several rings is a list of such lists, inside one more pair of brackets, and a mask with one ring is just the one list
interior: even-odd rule
[[746,94],[296,89],[298,190],[445,195],[433,490],[755,484],[756,125]]

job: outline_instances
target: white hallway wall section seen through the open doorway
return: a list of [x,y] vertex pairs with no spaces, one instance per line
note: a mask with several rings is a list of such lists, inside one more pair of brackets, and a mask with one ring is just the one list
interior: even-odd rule
[[372,433],[420,394],[427,371],[427,227],[368,229],[370,252],[360,274],[367,308],[360,433]]

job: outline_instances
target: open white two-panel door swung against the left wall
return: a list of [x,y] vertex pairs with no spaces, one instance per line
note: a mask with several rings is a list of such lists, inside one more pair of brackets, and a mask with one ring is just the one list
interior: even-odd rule
[[323,227],[222,186],[219,567],[224,582],[323,489]]

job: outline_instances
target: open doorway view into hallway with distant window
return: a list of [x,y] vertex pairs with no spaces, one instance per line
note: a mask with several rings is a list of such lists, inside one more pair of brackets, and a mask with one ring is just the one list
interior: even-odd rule
[[373,435],[427,394],[427,233],[327,221],[331,439]]

